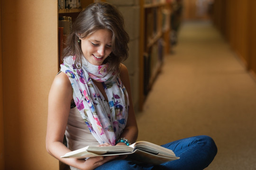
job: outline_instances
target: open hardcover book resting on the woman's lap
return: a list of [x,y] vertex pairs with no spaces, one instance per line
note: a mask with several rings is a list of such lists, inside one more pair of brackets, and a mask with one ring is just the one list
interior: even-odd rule
[[86,146],[66,153],[62,158],[85,159],[95,156],[128,155],[127,159],[137,164],[161,164],[179,159],[172,150],[146,141],[138,141],[129,146]]

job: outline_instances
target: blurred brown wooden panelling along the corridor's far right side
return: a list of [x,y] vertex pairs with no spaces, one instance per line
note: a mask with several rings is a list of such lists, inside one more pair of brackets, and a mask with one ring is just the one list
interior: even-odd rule
[[213,22],[245,68],[256,78],[255,0],[215,0]]

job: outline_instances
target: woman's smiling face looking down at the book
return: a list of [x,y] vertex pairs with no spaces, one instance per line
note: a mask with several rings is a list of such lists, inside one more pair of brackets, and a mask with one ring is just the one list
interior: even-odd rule
[[112,52],[112,33],[100,29],[81,39],[82,54],[91,64],[100,66]]

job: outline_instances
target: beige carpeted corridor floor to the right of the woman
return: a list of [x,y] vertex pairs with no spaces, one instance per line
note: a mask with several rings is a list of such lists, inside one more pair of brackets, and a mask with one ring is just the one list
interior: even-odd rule
[[210,22],[183,23],[137,123],[155,144],[211,136],[207,170],[256,169],[256,80]]

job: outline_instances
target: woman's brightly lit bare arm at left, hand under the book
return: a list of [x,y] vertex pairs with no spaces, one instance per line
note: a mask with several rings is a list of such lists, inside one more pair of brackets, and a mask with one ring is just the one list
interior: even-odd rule
[[81,170],[93,170],[114,157],[94,157],[87,161],[75,158],[60,158],[70,150],[63,144],[65,129],[73,99],[69,78],[59,73],[52,84],[48,97],[48,120],[46,150],[56,159]]

